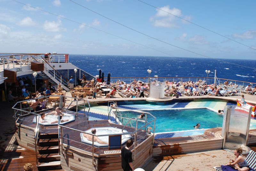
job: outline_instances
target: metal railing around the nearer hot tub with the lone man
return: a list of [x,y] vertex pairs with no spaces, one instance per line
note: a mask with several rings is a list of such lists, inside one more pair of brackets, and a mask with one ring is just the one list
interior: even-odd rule
[[[118,109],[128,110],[128,109],[123,109],[123,108],[118,108]],[[82,131],[82,130],[78,130],[78,129],[74,129],[74,128],[70,128],[70,127],[67,127],[67,126],[58,124],[59,129],[60,129],[60,141],[61,141],[61,149],[62,149],[62,150],[61,150],[61,153],[63,153],[63,144],[64,144],[63,138],[65,138],[65,137],[63,137],[63,128],[70,129],[70,130],[73,130],[73,131],[78,131],[78,132],[80,132],[80,133],[86,133],[86,134],[88,134],[88,135],[92,135],[92,155],[91,155],[91,156],[92,156],[92,164],[93,164],[93,165],[94,165],[94,136],[96,136],[96,137],[102,137],[102,136],[111,136],[111,135],[128,135],[128,134],[133,134],[133,137],[134,137],[134,157],[133,157],[133,160],[135,160],[137,132],[138,132],[139,130],[141,130],[142,128],[147,127],[147,126],[150,125],[152,122],[154,122],[154,128],[153,128],[153,130],[154,130],[154,131],[153,131],[153,137],[154,137],[154,135],[155,135],[156,117],[154,117],[154,116],[153,116],[151,113],[149,113],[149,112],[143,112],[143,111],[138,111],[138,110],[128,110],[128,111],[133,111],[133,112],[137,112],[137,113],[145,113],[145,114],[147,114],[147,115],[152,116],[153,119],[152,119],[151,121],[149,121],[148,123],[145,122],[145,121],[141,121],[141,122],[144,122],[145,125],[143,125],[143,126],[141,126],[140,128],[138,128],[138,121],[140,121],[140,120],[138,120],[137,118],[127,118],[127,119],[130,119],[130,120],[135,120],[135,121],[136,121],[135,130],[134,130],[133,132],[122,132],[122,133],[118,133],[118,134],[102,134],[102,135],[95,135],[95,134],[90,133],[90,132],[85,132],[85,131]],[[59,122],[58,122],[58,123],[60,123],[60,119],[59,119]],[[125,125],[122,130],[124,130],[124,128],[125,128],[126,126],[127,126],[127,125]],[[70,139],[70,138],[65,138],[65,139],[68,139],[68,140],[71,140],[71,141],[75,141],[75,140],[72,140],[72,139]],[[77,142],[77,141],[75,141],[75,142]],[[78,143],[81,143],[81,142],[78,142]],[[154,143],[154,138],[153,138],[153,143]],[[71,146],[69,145],[69,147],[71,147]],[[82,149],[82,150],[84,150],[84,149]],[[86,150],[85,150],[85,151],[86,151]],[[88,154],[88,155],[90,155],[90,154]]]

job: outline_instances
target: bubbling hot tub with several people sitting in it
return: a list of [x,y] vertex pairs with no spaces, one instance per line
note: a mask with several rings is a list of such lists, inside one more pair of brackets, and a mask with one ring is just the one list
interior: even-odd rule
[[[64,116],[62,117],[61,120],[68,119],[68,121],[60,122],[60,125],[67,124],[67,123],[72,122],[72,121],[75,120],[75,116],[74,115],[71,115],[71,114],[68,114],[68,113],[63,113],[63,114],[64,114]],[[37,116],[37,117],[40,118],[41,116]],[[58,120],[58,117],[56,115],[46,115],[45,119],[47,120],[47,122],[44,122],[44,123],[39,122],[38,124],[44,125],[44,126],[58,125],[58,123],[51,124],[53,121],[57,121]],[[36,117],[34,117],[33,122],[36,123]]]

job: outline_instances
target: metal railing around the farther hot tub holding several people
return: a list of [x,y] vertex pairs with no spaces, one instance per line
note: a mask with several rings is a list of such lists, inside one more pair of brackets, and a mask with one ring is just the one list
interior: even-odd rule
[[[44,96],[44,97],[34,98],[33,100],[36,100],[36,99],[39,100],[39,99],[43,98],[44,99],[43,103],[45,103],[45,108],[47,108],[47,106],[51,104],[51,102],[49,103],[49,97],[52,97],[52,96]],[[62,108],[64,107],[65,110],[68,110],[68,108],[71,106],[71,104],[73,102],[75,102],[74,106],[76,105],[76,116],[77,116],[77,108],[78,107],[84,107],[84,115],[86,115],[85,109],[87,109],[87,118],[89,118],[90,103],[86,99],[80,99],[80,98],[68,97],[68,96],[57,96],[57,97],[60,97],[59,98],[60,100],[62,99],[62,102],[59,102],[59,106],[60,106],[60,103],[63,103],[63,99],[64,99],[64,105],[62,106]],[[68,97],[68,98],[71,98],[71,99],[74,99],[74,100],[71,100],[70,104],[68,104],[65,97]],[[30,122],[28,120],[22,119],[22,117],[25,117],[25,116],[31,115],[31,114],[36,116],[36,123],[35,123],[36,127],[35,128],[30,127],[30,128],[31,128],[31,130],[33,130],[33,129],[35,130],[35,152],[36,152],[36,165],[37,165],[38,164],[37,142],[38,142],[38,137],[39,137],[39,114],[37,114],[35,112],[30,112],[29,109],[31,107],[25,107],[26,104],[27,105],[29,104],[29,103],[27,103],[28,101],[31,101],[31,99],[23,100],[23,101],[20,101],[20,102],[17,102],[17,103],[14,104],[14,106],[12,107],[12,109],[14,109],[14,116],[13,117],[15,118],[15,127],[16,127],[16,123],[18,123],[19,121],[34,123],[34,122]],[[84,103],[79,105],[78,101],[80,103],[82,103],[82,101],[83,101]],[[68,108],[66,108],[65,104],[68,105]],[[36,108],[38,106],[40,107],[40,104],[36,105],[36,106],[33,106],[33,108]],[[45,110],[48,110],[48,109],[42,109],[42,110],[39,110],[39,111],[36,111],[36,112],[42,112],[42,111],[45,111]],[[18,113],[18,112],[20,112],[20,113]],[[58,132],[59,132],[59,130],[58,130]],[[59,144],[60,144],[60,141],[59,141]],[[60,146],[59,146],[59,152],[60,152]]]

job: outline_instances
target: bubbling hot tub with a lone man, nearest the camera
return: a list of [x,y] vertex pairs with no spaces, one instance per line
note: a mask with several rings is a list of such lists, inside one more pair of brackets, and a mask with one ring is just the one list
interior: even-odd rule
[[[92,133],[92,129],[89,129],[89,130],[86,130],[85,132],[88,132],[88,133]],[[104,135],[104,134],[120,134],[122,133],[122,129],[119,129],[119,128],[114,128],[114,127],[98,127],[98,128],[95,128],[96,129],[96,135]],[[123,132],[127,132],[126,130],[123,130]],[[89,144],[89,145],[92,145],[92,141],[89,141],[87,140],[87,138],[85,138],[83,136],[83,133],[80,133],[80,137],[81,137],[81,141],[85,144]],[[126,143],[126,141],[128,139],[131,139],[131,135],[122,135],[122,140],[121,140],[121,143],[122,145],[124,143]],[[105,141],[105,142],[108,142],[108,136],[102,136],[102,137],[98,137],[101,141]],[[108,146],[107,144],[100,144],[98,142],[94,142],[94,146],[98,146],[98,147],[106,147]]]

